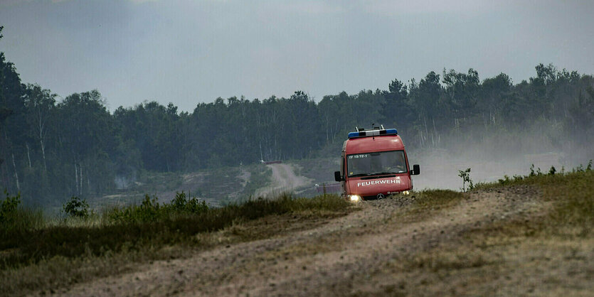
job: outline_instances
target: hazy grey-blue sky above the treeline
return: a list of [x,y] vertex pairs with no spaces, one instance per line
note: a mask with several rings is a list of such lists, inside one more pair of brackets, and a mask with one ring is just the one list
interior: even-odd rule
[[111,110],[245,95],[317,101],[443,68],[514,82],[538,63],[594,73],[594,1],[0,0],[23,82]]

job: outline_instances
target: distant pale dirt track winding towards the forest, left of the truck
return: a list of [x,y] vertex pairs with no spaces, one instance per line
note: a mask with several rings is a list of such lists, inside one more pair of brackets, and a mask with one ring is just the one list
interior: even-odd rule
[[272,170],[271,185],[257,190],[255,197],[267,197],[282,192],[292,192],[312,183],[309,178],[297,176],[295,168],[291,164],[276,163],[268,164],[267,167]]

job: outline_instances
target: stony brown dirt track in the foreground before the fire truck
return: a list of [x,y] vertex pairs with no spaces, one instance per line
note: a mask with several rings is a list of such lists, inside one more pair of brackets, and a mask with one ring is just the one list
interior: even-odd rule
[[[68,295],[346,295],[390,284],[382,267],[459,242],[468,230],[541,213],[530,188],[474,193],[418,222],[401,222],[410,200],[364,202],[361,210],[282,237],[234,244],[189,259],[157,261],[137,272],[75,286]],[[437,292],[435,292],[437,293]]]

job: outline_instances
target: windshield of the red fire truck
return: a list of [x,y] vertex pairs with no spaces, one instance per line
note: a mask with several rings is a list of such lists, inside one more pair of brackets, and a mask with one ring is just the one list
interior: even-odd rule
[[378,151],[346,156],[349,177],[405,173],[404,151]]

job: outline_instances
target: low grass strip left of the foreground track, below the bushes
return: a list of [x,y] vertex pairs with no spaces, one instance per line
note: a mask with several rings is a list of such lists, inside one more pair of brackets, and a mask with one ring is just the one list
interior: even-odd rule
[[[162,207],[162,205],[161,205]],[[132,206],[132,213],[137,210]],[[346,215],[350,204],[336,195],[252,200],[241,205],[129,221],[94,217],[88,222],[2,233],[0,290],[52,293],[80,282],[137,269],[155,260],[190,257],[197,251],[274,237]],[[119,210],[122,212],[122,210]],[[160,210],[159,210],[160,211]],[[112,213],[112,212],[111,212]],[[153,212],[151,212],[153,213]],[[142,217],[142,216],[141,216]],[[78,221],[77,221],[78,222]]]

